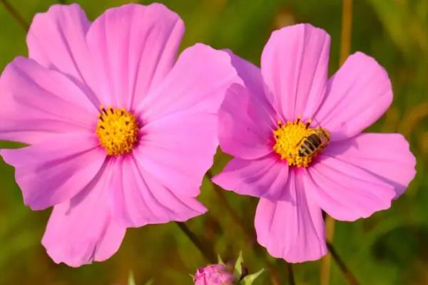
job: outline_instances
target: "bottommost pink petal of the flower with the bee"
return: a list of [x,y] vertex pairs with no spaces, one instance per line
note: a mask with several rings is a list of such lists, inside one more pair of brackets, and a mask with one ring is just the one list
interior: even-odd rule
[[288,262],[320,259],[327,253],[320,207],[309,195],[307,175],[290,172],[290,200],[260,199],[255,213],[259,244],[273,257]]

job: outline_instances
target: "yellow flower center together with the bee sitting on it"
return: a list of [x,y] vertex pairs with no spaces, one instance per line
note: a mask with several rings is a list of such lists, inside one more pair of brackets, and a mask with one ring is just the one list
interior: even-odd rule
[[278,122],[277,130],[273,131],[275,145],[273,150],[288,165],[307,167],[310,162],[323,150],[330,141],[330,133],[323,128],[309,128],[311,120],[307,123],[300,121]]

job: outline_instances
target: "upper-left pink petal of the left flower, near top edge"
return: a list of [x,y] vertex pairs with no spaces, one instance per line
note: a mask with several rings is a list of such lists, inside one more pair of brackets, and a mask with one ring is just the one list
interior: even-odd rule
[[[53,5],[46,13],[36,14],[27,34],[29,58],[77,81],[81,88],[93,83],[93,64],[86,45],[91,22],[78,4]],[[90,89],[86,95],[98,107]]]

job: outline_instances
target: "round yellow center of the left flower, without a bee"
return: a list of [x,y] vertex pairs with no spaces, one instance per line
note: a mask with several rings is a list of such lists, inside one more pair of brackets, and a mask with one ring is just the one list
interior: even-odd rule
[[124,155],[131,153],[138,140],[138,123],[136,117],[124,108],[104,108],[98,115],[96,135],[107,155]]

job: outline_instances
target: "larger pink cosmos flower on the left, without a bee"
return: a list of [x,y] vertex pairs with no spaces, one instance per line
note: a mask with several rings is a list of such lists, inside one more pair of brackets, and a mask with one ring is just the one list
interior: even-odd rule
[[0,79],[1,150],[31,209],[54,210],[42,244],[80,266],[118,250],[127,227],[185,221],[218,145],[217,110],[235,77],[230,56],[187,48],[160,4],[51,6],[34,17],[29,58]]

